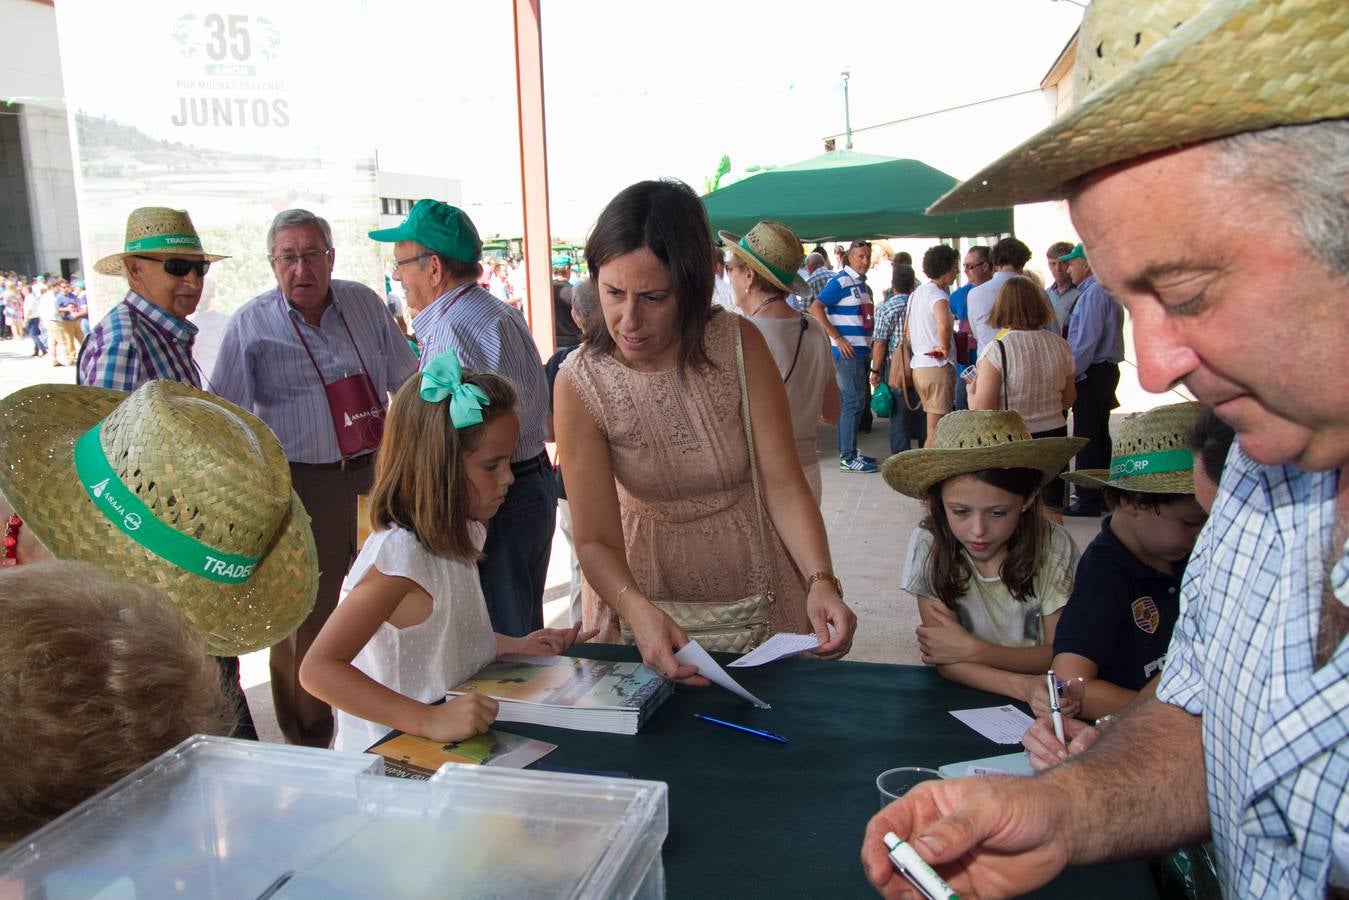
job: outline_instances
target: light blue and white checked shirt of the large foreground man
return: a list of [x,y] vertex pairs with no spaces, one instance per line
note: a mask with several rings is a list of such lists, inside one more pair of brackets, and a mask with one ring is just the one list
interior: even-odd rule
[[1349,641],[1315,669],[1334,472],[1261,467],[1233,449],[1182,587],[1157,699],[1203,716],[1222,892],[1321,897],[1349,828]]

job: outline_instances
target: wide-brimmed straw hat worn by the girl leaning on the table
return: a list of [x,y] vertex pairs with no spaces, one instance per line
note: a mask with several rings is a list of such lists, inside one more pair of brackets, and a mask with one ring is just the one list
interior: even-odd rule
[[1086,447],[1085,437],[1031,437],[1025,420],[1006,409],[947,413],[932,447],[885,460],[885,482],[900,494],[925,499],[928,488],[986,468],[1037,468],[1047,484]]

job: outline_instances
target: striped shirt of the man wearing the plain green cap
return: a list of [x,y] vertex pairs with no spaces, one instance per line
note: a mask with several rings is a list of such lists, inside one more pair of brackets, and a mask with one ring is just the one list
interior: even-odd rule
[[515,386],[519,440],[513,463],[544,452],[548,433],[548,378],[525,317],[478,285],[453,287],[417,313],[413,332],[422,347],[422,367],[453,348],[464,368],[496,372]]

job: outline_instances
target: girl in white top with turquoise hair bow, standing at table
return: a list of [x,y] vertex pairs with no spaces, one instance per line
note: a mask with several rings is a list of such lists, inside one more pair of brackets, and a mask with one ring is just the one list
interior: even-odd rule
[[299,667],[305,690],[337,710],[336,749],[362,752],[390,729],[480,734],[496,718],[491,698],[432,703],[500,653],[556,654],[594,637],[579,623],[492,633],[478,559],[515,480],[518,437],[510,382],[463,372],[452,349],[394,397],[370,494],[376,530]]

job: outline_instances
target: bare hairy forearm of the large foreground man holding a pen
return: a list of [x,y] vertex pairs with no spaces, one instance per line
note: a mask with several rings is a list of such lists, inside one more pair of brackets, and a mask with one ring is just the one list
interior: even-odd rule
[[1063,822],[1075,865],[1209,835],[1201,719],[1170,703],[1137,700],[1095,746],[1041,777],[1071,804]]

